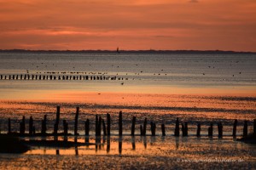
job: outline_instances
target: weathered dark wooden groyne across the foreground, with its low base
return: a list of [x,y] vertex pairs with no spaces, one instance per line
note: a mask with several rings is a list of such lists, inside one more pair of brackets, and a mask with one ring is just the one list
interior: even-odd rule
[[[54,124],[54,130],[52,133],[47,133],[47,116],[44,115],[44,119],[42,120],[42,126],[41,126],[41,133],[36,133],[36,127],[34,126],[33,123],[33,118],[32,116],[30,116],[29,118],[29,124],[28,124],[28,132],[26,131],[26,117],[22,116],[22,119],[20,121],[20,132],[19,133],[15,133],[12,132],[12,125],[11,125],[11,119],[9,118],[8,120],[8,134],[17,134],[20,136],[47,136],[47,135],[51,135],[51,136],[58,136],[58,135],[72,135],[71,133],[68,133],[68,123],[66,120],[63,120],[63,133],[59,133],[59,122],[60,122],[60,117],[61,117],[61,107],[57,106],[56,107],[56,116],[55,116],[55,124]],[[105,120],[102,116],[98,116],[96,115],[96,121],[95,121],[95,135],[96,136],[110,136],[111,135],[111,116],[110,114],[106,114],[106,119],[107,119],[107,125],[105,123]],[[79,107],[76,108],[76,113],[75,113],[75,118],[74,118],[74,133],[73,135],[78,136],[78,127],[79,127]],[[148,125],[148,119],[147,117],[144,118],[143,124],[140,124],[140,133],[136,134],[136,121],[137,121],[137,117],[136,116],[132,116],[131,119],[131,136],[135,136],[135,135],[141,135],[141,136],[146,136],[149,135],[147,134],[147,125]],[[123,112],[119,111],[119,120],[118,120],[118,135],[122,136],[123,135]],[[232,129],[232,136],[233,138],[236,138],[236,127],[237,127],[237,123],[238,121],[235,120],[234,124],[233,124],[233,129]],[[125,126],[130,126],[130,125],[125,125]],[[190,132],[190,134],[196,135],[197,137],[201,137],[201,123],[198,122],[197,123],[197,128],[196,128],[196,132]],[[2,126],[3,127],[3,126]],[[181,127],[181,128],[180,128]],[[214,126],[213,126],[213,122],[209,123],[209,127],[208,129],[208,137],[212,138],[213,137],[213,133],[214,131]],[[223,138],[223,131],[224,131],[224,125],[223,122],[218,122],[217,123],[217,129],[218,129],[218,138]],[[1,129],[1,125],[0,125],[0,132],[3,132],[3,128]],[[157,125],[155,122],[150,121],[150,131],[151,131],[151,136],[156,136],[156,131],[157,131]],[[179,118],[176,119],[175,122],[175,127],[174,130],[170,130],[170,132],[173,133],[169,133],[169,135],[174,135],[176,137],[180,136],[180,131],[182,132],[182,136],[183,137],[187,137],[189,136],[189,122],[180,122]],[[162,136],[166,136],[166,125],[165,124],[160,124],[160,132]],[[253,120],[253,136],[256,136],[256,119]],[[90,120],[86,119],[84,122],[84,134],[85,136],[89,136],[90,135]],[[242,137],[246,138],[248,136],[248,121],[244,121],[243,123],[243,128],[242,128]]]

